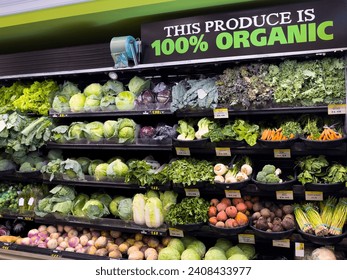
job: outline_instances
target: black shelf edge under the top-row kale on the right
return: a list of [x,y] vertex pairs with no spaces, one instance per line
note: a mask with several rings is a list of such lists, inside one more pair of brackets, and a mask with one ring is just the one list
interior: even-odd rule
[[[315,107],[276,107],[276,108],[263,108],[263,109],[244,109],[235,110],[228,109],[228,114],[232,116],[249,116],[249,115],[272,115],[272,114],[308,114],[308,113],[328,113],[328,106],[315,106]],[[179,118],[184,117],[212,117],[213,110],[187,110],[177,111],[176,116]]]

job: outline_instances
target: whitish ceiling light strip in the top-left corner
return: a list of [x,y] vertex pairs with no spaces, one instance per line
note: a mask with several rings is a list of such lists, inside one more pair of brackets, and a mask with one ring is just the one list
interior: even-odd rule
[[91,0],[0,0],[0,16],[9,16],[90,1]]

